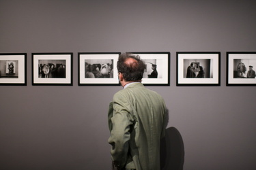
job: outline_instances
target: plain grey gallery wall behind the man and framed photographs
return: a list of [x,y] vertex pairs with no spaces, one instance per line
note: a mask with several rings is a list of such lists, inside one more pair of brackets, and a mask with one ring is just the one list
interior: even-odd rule
[[[255,169],[255,87],[226,86],[226,52],[256,51],[255,5],[1,0],[0,52],[27,53],[27,86],[0,86],[0,169],[111,169],[121,87],[78,86],[77,53],[127,51],[171,52],[171,86],[149,87],[169,109],[165,169],[183,155],[184,169]],[[178,51],[221,52],[221,86],[176,86]],[[73,86],[32,86],[32,52],[73,52]]]

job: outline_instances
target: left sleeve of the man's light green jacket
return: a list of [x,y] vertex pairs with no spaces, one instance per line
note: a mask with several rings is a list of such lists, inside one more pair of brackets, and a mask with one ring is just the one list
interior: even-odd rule
[[130,141],[130,125],[133,122],[130,115],[130,105],[122,95],[114,95],[112,129],[109,137],[111,144],[111,157],[117,167],[121,169],[126,165]]

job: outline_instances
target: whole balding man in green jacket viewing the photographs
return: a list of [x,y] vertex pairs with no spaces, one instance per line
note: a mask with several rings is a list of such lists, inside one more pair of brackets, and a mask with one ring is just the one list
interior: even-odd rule
[[109,104],[109,143],[113,168],[160,169],[160,139],[167,123],[165,101],[141,83],[145,63],[132,54],[117,61],[123,89]]

